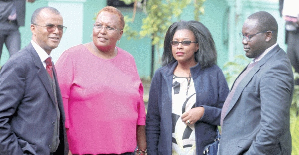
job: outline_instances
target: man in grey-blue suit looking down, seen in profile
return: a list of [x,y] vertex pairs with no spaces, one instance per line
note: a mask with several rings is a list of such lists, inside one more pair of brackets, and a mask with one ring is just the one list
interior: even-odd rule
[[252,62],[235,80],[221,112],[220,155],[291,155],[294,78],[276,43],[278,25],[264,11],[250,15],[240,36]]

